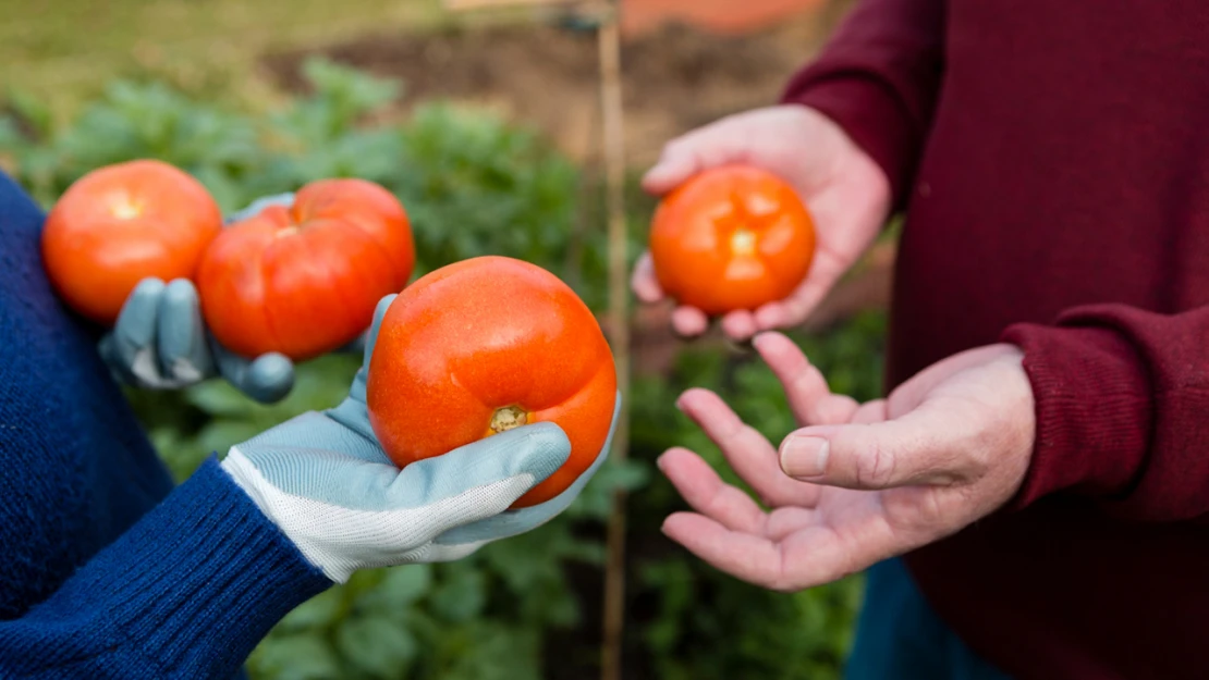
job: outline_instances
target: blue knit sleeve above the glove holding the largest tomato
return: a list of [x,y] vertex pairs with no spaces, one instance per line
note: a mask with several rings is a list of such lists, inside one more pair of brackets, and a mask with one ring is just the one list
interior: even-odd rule
[[0,676],[233,678],[331,585],[212,458],[48,599],[0,622]]

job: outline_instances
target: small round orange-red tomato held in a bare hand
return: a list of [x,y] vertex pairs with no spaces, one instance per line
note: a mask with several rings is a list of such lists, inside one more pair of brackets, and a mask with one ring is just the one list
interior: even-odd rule
[[814,220],[793,187],[748,165],[692,178],[664,198],[650,228],[664,292],[710,315],[785,298],[814,254]]

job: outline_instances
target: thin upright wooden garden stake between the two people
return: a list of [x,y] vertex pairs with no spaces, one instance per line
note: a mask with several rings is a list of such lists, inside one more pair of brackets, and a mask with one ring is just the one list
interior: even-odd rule
[[[444,0],[453,11],[505,7],[571,6],[567,0]],[[624,403],[630,399],[629,229],[625,216],[625,132],[621,104],[621,30],[617,0],[595,0],[579,5],[595,19],[600,62],[600,105],[604,157],[606,211],[608,215],[608,326],[617,362],[618,390]],[[624,461],[629,446],[627,408],[618,414],[612,457]],[[604,617],[601,645],[601,680],[620,680],[625,628],[625,516],[624,490],[613,495],[608,523],[608,559],[604,568]]]

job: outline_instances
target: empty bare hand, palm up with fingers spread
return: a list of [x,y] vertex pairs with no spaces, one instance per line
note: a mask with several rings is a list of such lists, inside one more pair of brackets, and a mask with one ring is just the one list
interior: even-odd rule
[[810,588],[951,535],[1020,488],[1036,422],[1016,347],[958,354],[862,405],[832,394],[785,336],[762,333],[754,345],[803,425],[780,451],[713,393],[689,390],[677,403],[770,511],[690,451],[659,460],[693,507],[667,517],[664,533],[716,568],[767,588]]

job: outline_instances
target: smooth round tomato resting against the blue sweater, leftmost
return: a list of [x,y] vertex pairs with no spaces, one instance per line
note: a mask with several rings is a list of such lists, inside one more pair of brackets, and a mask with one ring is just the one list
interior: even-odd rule
[[129,161],[75,181],[46,216],[42,262],[58,295],[106,326],[147,277],[191,279],[222,211],[201,182],[160,161]]

